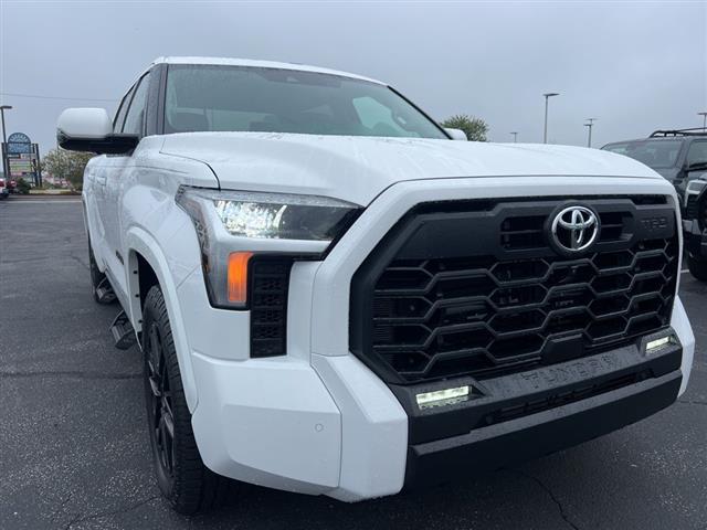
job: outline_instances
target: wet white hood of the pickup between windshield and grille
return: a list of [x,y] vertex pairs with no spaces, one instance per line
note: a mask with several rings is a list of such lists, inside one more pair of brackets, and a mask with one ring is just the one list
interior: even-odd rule
[[661,179],[620,155],[568,146],[274,132],[168,135],[161,151],[208,163],[222,189],[307,193],[368,205],[395,182],[458,177]]

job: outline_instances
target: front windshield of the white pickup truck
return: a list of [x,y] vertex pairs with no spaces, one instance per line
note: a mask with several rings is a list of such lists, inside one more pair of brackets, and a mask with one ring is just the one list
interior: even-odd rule
[[377,83],[279,68],[170,65],[165,131],[202,130],[447,139]]

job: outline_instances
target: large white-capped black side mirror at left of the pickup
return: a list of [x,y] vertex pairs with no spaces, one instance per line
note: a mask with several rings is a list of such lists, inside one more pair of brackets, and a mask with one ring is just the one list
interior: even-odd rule
[[137,135],[114,135],[103,108],[67,108],[56,123],[56,142],[70,151],[123,155],[137,147]]

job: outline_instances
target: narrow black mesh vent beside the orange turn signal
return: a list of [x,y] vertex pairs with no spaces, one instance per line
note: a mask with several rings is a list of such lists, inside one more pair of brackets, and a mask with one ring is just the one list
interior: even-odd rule
[[287,288],[292,261],[255,258],[250,264],[251,357],[287,352]]

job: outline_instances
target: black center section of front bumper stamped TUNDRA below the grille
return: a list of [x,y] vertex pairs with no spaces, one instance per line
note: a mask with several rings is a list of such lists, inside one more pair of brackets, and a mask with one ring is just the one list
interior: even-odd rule
[[677,399],[682,353],[674,346],[647,357],[631,346],[496,378],[478,384],[485,395],[428,415],[405,389],[399,394],[411,418],[405,485],[497,469],[647,417]]

